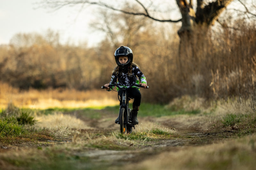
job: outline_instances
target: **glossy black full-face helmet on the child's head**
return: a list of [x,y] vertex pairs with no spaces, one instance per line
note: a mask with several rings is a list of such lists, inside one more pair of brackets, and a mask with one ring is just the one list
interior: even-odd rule
[[[127,69],[133,60],[133,54],[132,54],[132,50],[129,47],[125,47],[125,46],[121,46],[119,48],[116,49],[116,52],[114,54],[115,59],[116,59],[116,64],[121,68],[121,69]],[[126,56],[128,57],[128,61],[125,64],[121,64],[118,60],[119,57],[121,56]]]

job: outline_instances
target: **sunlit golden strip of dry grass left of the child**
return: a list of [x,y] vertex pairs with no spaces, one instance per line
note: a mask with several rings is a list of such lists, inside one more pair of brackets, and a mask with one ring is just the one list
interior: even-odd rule
[[118,104],[116,92],[105,90],[77,91],[70,89],[46,89],[19,91],[5,83],[0,84],[0,108],[8,103],[27,108],[85,108],[115,106]]

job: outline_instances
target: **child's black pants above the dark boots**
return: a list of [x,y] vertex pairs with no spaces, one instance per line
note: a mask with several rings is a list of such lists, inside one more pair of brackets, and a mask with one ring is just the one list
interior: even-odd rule
[[[119,89],[118,90],[118,95],[120,96],[120,105],[122,104],[122,95],[123,95],[123,90]],[[134,99],[133,105],[134,106],[140,106],[141,102],[141,94],[138,88],[129,88],[127,89],[127,97],[131,97]]]

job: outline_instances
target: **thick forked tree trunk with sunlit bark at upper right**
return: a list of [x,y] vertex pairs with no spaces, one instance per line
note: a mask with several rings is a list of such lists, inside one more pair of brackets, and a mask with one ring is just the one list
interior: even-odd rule
[[[188,58],[192,58],[196,63],[197,61],[197,48],[198,48],[198,39],[204,39],[207,34],[208,28],[214,23],[214,21],[219,17],[220,13],[230,4],[233,0],[216,0],[207,5],[203,4],[203,0],[197,0],[197,9],[196,13],[193,10],[192,0],[187,2],[187,0],[176,0],[177,5],[180,9],[182,16],[182,26],[178,30],[180,36],[180,46],[179,46],[179,63],[181,73],[184,75],[186,70],[192,71],[196,69],[196,66],[193,66],[186,62]],[[190,68],[183,68],[182,65],[190,65]]]

